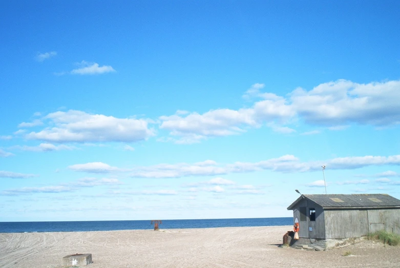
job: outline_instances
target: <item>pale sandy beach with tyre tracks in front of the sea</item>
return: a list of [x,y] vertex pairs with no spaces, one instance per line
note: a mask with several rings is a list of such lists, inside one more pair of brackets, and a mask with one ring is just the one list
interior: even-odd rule
[[[400,247],[362,241],[328,251],[278,248],[291,226],[104,232],[0,233],[0,267],[62,267],[91,253],[88,267],[399,267]],[[343,256],[345,252],[350,256]]]

